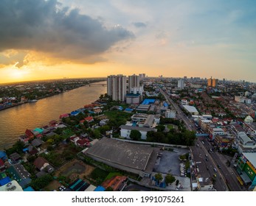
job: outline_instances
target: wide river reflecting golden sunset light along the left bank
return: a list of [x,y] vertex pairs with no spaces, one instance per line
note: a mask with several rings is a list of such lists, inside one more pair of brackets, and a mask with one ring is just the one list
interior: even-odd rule
[[[105,82],[95,84],[100,83]],[[18,141],[26,129],[44,127],[49,121],[58,120],[60,114],[70,113],[96,101],[106,90],[103,85],[85,86],[0,111],[0,150]]]

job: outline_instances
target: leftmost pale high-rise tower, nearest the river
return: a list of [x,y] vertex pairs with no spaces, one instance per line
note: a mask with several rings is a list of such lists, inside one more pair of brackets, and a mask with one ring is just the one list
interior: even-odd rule
[[108,76],[107,79],[107,93],[114,101],[125,101],[126,95],[126,76],[122,74]]

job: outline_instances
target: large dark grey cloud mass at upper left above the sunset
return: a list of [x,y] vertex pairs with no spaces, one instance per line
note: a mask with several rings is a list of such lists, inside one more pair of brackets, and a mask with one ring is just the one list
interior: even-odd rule
[[134,38],[121,26],[107,29],[99,20],[61,6],[55,0],[1,0],[0,51],[41,51],[93,63],[115,43]]

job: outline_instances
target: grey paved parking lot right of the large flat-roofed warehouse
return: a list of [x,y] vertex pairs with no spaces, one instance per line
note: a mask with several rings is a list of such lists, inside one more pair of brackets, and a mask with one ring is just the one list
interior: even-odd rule
[[187,149],[174,149],[175,152],[161,151],[162,157],[159,157],[155,167],[153,168],[154,172],[159,172],[162,174],[173,174],[175,176],[180,175],[180,166],[181,161],[179,160],[179,155],[185,154],[188,152]]

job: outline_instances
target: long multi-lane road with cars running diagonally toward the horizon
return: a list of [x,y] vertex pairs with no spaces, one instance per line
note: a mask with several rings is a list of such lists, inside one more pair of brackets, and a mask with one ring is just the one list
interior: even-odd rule
[[[165,91],[163,91],[161,88],[159,88],[159,91],[165,96],[167,102],[169,102],[176,110],[176,118],[183,120],[187,129],[196,132],[197,128],[193,122],[191,122],[190,119],[184,115],[181,108],[179,108],[179,106],[173,102],[172,99],[170,99]],[[215,174],[216,177],[214,186],[217,191],[244,191],[244,188],[241,188],[241,185],[239,185],[238,180],[236,179],[236,174],[233,168],[228,168],[226,166],[224,157],[221,154],[218,154],[218,152],[209,153],[208,151],[210,149],[212,149],[212,145],[205,138],[198,138],[196,146],[191,146],[193,158],[195,162],[198,162],[198,173],[201,175],[201,177],[204,177],[204,179],[212,178]],[[217,170],[217,172],[213,170],[214,168]]]

